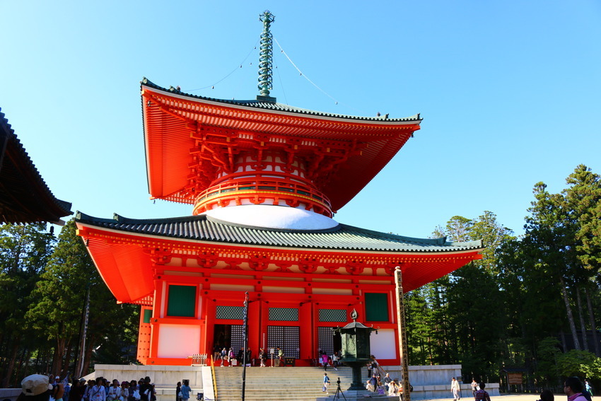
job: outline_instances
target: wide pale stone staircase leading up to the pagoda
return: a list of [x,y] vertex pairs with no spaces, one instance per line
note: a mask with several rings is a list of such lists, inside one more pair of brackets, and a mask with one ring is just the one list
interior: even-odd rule
[[[322,393],[322,368],[305,367],[248,367],[246,368],[245,401],[315,401],[325,397]],[[351,385],[353,373],[349,367],[327,369],[330,380],[329,395],[336,393],[336,381],[340,378],[340,388],[344,391]],[[217,385],[216,401],[242,400],[242,368],[215,368]],[[367,380],[367,379],[366,379]],[[342,399],[342,397],[341,397]]]

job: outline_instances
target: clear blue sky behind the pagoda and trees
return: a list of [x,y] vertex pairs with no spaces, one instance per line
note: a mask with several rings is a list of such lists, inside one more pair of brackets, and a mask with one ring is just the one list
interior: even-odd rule
[[601,173],[598,1],[170,3],[0,0],[0,107],[74,210],[192,213],[148,199],[139,81],[255,98],[265,9],[279,45],[329,95],[274,45],[280,103],[424,117],[341,223],[426,237],[488,210],[519,234],[535,182],[559,192],[580,163]]

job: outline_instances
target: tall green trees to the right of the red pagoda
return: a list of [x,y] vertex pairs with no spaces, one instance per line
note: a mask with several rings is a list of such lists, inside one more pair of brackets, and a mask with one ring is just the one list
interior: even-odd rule
[[601,378],[597,359],[576,363],[601,356],[601,179],[578,165],[566,184],[559,193],[535,184],[520,238],[490,211],[436,228],[435,237],[482,239],[486,248],[481,260],[407,294],[411,364],[460,363],[464,376],[484,380],[519,367],[534,386],[568,373]]

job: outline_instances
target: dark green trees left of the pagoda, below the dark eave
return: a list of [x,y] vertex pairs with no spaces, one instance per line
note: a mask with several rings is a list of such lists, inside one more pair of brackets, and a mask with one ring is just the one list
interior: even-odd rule
[[[41,224],[1,226],[0,263],[0,374],[5,386],[28,373],[74,372],[78,358],[90,366],[98,356],[93,349],[103,350],[105,363],[134,361],[122,349],[135,343],[130,327],[137,327],[137,308],[117,305],[76,236],[74,221],[66,223],[58,241]],[[81,350],[88,289],[89,330]],[[81,354],[89,356],[81,361]]]

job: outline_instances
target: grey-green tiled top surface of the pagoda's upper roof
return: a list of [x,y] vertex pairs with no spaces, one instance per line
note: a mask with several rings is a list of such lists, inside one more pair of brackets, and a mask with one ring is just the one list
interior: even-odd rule
[[297,114],[312,115],[312,116],[319,116],[319,117],[332,117],[332,118],[340,118],[340,119],[346,119],[346,120],[360,120],[360,121],[373,121],[373,122],[376,122],[376,121],[377,122],[421,122],[421,120],[423,120],[420,117],[419,113],[416,115],[412,115],[410,117],[404,117],[404,118],[388,118],[387,114],[381,115],[379,117],[361,117],[361,116],[355,116],[355,115],[342,115],[342,114],[335,114],[335,113],[319,112],[319,111],[315,111],[315,110],[302,109],[300,107],[293,107],[291,105],[285,105],[283,103],[274,103],[274,102],[268,102],[268,101],[263,101],[263,100],[226,100],[226,99],[206,98],[204,96],[192,95],[191,93],[182,92],[176,88],[173,88],[173,86],[171,86],[170,88],[163,88],[161,86],[156,85],[156,83],[148,81],[148,79],[146,79],[146,77],[144,77],[142,79],[140,84],[143,86],[148,86],[150,88],[158,89],[159,91],[168,91],[170,93],[186,96],[188,98],[210,100],[213,102],[225,103],[228,105],[247,106],[247,107],[254,107],[257,109],[272,110],[272,111],[279,111],[279,112],[294,112]]

